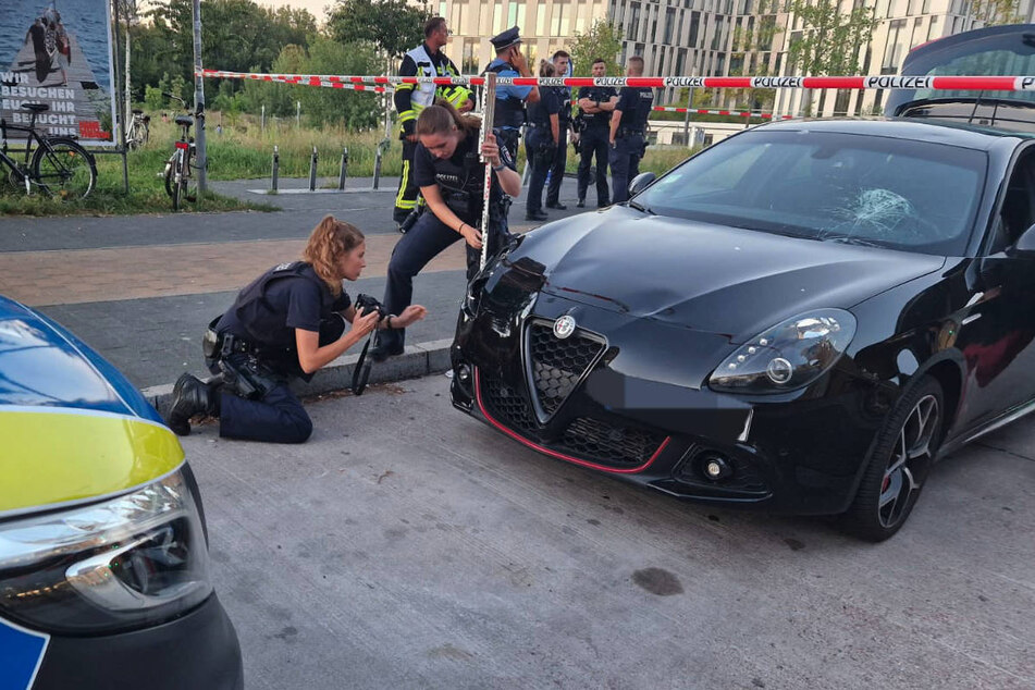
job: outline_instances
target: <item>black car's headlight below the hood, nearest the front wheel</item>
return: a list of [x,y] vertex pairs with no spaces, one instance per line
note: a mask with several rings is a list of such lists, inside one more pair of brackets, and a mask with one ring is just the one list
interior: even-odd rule
[[845,353],[855,317],[817,309],[787,319],[737,348],[709,378],[729,393],[780,393],[809,385]]

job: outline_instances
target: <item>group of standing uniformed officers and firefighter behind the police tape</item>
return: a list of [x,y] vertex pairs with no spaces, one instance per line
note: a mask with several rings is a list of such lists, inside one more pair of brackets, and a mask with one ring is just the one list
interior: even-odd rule
[[[459,70],[442,50],[451,35],[443,17],[429,20],[424,25],[424,42],[406,54],[399,75],[458,76]],[[484,72],[494,72],[501,77],[533,76],[521,52],[517,26],[493,36],[490,41],[496,57]],[[556,51],[551,59],[554,75],[567,76],[569,62],[567,52]],[[594,77],[606,76],[603,59],[594,60],[592,73]],[[630,58],[626,75],[642,74],[642,58]],[[500,146],[505,147],[510,157],[516,159],[523,130],[528,158],[533,163],[539,161],[539,164],[530,165],[533,184],[529,187],[526,219],[546,220],[544,206],[547,209],[566,208],[559,200],[559,193],[567,163],[569,132],[580,153],[578,208],[586,206],[594,159],[596,207],[603,208],[628,199],[629,183],[639,173],[640,159],[645,149],[646,120],[653,98],[653,89],[650,88],[624,87],[616,90],[609,86],[583,86],[577,96],[578,114],[572,118],[569,87],[498,86],[492,126]],[[414,126],[420,111],[436,99],[449,102],[460,112],[472,110],[476,104],[473,90],[464,86],[404,84],[395,91],[399,138],[403,140],[403,174],[393,215],[399,231],[404,233],[412,226],[422,210],[419,189],[414,182],[414,155],[418,147]],[[551,120],[554,114],[557,115],[556,126]],[[613,195],[607,184],[608,168]],[[540,174],[537,175],[537,172]],[[545,177],[547,173],[549,182],[539,184],[538,177]],[[541,198],[544,188],[545,205]]]

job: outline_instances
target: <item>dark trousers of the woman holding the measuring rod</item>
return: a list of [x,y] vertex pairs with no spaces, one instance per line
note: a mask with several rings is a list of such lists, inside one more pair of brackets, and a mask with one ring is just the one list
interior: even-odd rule
[[[509,238],[507,220],[502,213],[493,214],[492,233],[489,243],[490,254],[498,251],[503,242]],[[439,220],[430,209],[421,213],[420,219],[403,235],[392,258],[384,285],[382,304],[389,313],[402,313],[414,304],[414,278],[431,261],[455,242],[464,242],[467,249],[467,280],[475,278],[481,263],[481,250],[472,249],[464,237]],[[378,331],[379,346],[402,347],[406,341],[406,330]]]

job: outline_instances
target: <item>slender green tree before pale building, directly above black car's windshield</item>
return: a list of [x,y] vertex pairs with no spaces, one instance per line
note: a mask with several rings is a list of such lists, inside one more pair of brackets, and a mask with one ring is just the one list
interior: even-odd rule
[[[790,0],[788,11],[802,21],[802,30],[791,34],[787,51],[793,74],[846,75],[861,69],[862,47],[870,42],[879,24],[875,8],[860,5],[842,14],[838,0]],[[802,110],[808,114],[812,89],[805,89],[803,96]]]

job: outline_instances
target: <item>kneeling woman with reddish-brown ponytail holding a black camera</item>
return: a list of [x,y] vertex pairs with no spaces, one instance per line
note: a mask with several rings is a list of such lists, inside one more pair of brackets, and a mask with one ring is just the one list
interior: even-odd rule
[[187,435],[190,417],[207,414],[220,418],[221,436],[306,441],[312,421],[289,380],[308,381],[374,329],[402,329],[424,318],[419,305],[380,320],[377,310],[356,311],[342,281],[359,278],[366,250],[358,229],[328,215],[309,236],[301,261],[276,266],[241,291],[210,326],[214,342],[206,364],[219,375],[212,383],[180,377],[169,427]]

